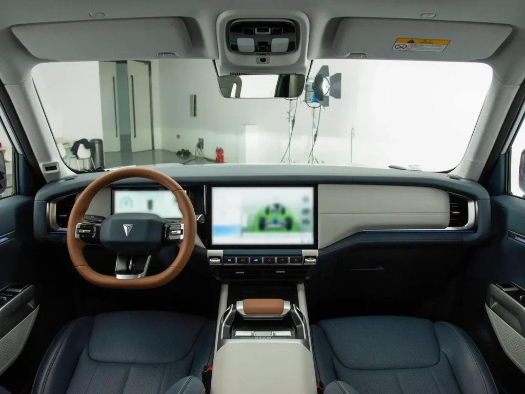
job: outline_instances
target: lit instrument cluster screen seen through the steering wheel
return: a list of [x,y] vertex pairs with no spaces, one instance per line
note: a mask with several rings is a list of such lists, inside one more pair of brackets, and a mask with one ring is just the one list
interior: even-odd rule
[[113,190],[113,213],[153,213],[163,219],[182,219],[169,190]]

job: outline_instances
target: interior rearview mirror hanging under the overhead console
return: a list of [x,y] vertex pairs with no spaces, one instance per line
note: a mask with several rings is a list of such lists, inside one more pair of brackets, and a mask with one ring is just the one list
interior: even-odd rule
[[223,76],[217,79],[226,98],[296,98],[304,90],[304,75],[266,74]]

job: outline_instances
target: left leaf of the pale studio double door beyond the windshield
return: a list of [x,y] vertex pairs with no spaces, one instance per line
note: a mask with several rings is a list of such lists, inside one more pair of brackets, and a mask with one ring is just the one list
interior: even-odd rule
[[100,61],[100,103],[105,152],[120,152],[117,105],[117,63]]

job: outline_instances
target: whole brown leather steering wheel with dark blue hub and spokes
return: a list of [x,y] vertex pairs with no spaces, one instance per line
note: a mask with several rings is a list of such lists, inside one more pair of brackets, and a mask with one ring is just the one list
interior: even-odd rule
[[[127,178],[150,179],[159,182],[161,185],[165,186],[165,188],[170,190],[175,196],[178,208],[182,213],[182,226],[173,223],[166,224],[159,216],[152,214],[125,213],[111,215],[101,224],[87,223],[84,219],[84,215],[86,214],[93,197],[110,183]],[[124,224],[122,225],[122,223]],[[135,225],[135,229],[132,228],[133,224]],[[181,227],[182,232],[181,230],[171,230],[172,228],[181,229]],[[82,229],[89,229],[90,233],[88,233],[87,230]],[[83,232],[86,234],[83,234]],[[97,232],[99,232],[98,235]],[[183,234],[178,236],[178,239],[182,239],[182,241],[172,241],[177,235],[170,236],[170,233]],[[71,261],[75,268],[77,268],[78,273],[94,285],[113,288],[152,288],[162,286],[172,281],[182,271],[193,252],[195,234],[196,222],[193,204],[190,201],[190,198],[188,198],[186,192],[177,182],[166,174],[149,168],[123,168],[102,175],[87,186],[87,188],[78,196],[69,216],[67,226],[67,247]],[[119,275],[103,275],[93,271],[82,253],[86,244],[92,243],[91,235],[93,235],[93,238],[99,236],[100,243],[103,246],[110,248],[112,251],[119,253],[119,256],[121,249],[124,253],[132,250],[133,252],[131,254],[137,254],[142,252],[137,250],[140,245],[145,245],[144,247],[147,246],[148,250],[142,254],[150,255],[143,272],[144,275],[120,275],[121,278],[119,278]],[[135,238],[133,239],[132,236]],[[87,240],[85,237],[89,237],[90,242],[83,242],[82,239]],[[145,239],[148,240],[145,241]],[[158,245],[156,244],[157,239],[159,242]],[[179,245],[177,257],[173,263],[159,274],[145,276],[145,271],[149,264],[149,258],[151,257],[151,254],[153,254],[152,251],[156,250],[156,248],[160,250],[162,246],[170,244]],[[132,257],[127,257],[127,259],[124,258],[122,261],[124,262],[124,268],[126,270],[134,264]],[[118,266],[119,258],[117,258],[117,267]],[[132,271],[132,268],[130,268],[130,270]]]

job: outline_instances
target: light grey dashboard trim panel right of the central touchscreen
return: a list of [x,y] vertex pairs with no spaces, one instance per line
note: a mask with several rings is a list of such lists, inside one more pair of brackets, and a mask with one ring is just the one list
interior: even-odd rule
[[[444,231],[449,219],[449,194],[442,189],[371,184],[318,186],[320,249],[366,231]],[[475,215],[470,219],[475,220]]]

